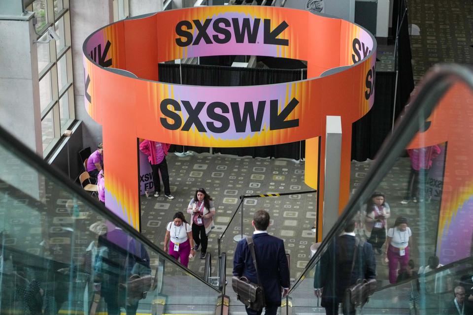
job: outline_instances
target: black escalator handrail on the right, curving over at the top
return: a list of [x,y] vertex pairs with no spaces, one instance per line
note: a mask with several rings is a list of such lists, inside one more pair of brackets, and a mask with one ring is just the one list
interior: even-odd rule
[[377,188],[378,183],[394,165],[396,159],[417,133],[419,118],[425,121],[437,106],[440,98],[445,95],[453,84],[458,82],[466,84],[473,91],[473,71],[471,67],[458,64],[438,64],[426,74],[418,92],[411,98],[404,119],[397,121],[393,133],[383,142],[365,180],[348,200],[337,223],[330,229],[317,252],[309,260],[304,271],[291,287],[289,294],[298,287],[306,274],[320,260],[329,243],[352,217],[352,209],[355,209],[359,204],[359,200],[367,200],[372,191]]

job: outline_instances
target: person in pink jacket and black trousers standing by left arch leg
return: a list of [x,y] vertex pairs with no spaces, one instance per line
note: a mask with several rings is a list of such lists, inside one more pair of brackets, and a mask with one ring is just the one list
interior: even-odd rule
[[169,172],[166,156],[171,145],[169,143],[156,142],[151,140],[143,140],[139,145],[139,150],[148,156],[153,171],[154,196],[159,197],[161,193],[161,183],[159,180],[159,172],[163,179],[164,195],[168,199],[174,199],[169,188]]

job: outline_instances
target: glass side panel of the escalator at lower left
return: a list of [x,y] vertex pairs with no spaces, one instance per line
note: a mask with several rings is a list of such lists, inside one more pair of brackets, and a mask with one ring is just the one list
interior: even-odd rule
[[1,314],[214,314],[218,290],[4,130],[0,158]]

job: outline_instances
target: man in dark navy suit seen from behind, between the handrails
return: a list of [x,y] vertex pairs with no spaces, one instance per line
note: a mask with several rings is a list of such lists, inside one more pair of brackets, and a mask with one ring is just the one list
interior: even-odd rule
[[[259,278],[265,291],[265,315],[275,315],[281,306],[281,294],[286,296],[289,291],[289,267],[284,250],[283,240],[270,236],[266,231],[270,225],[270,215],[264,210],[258,210],[251,224],[254,226],[253,243],[255,245],[256,263]],[[233,275],[245,276],[249,281],[258,283],[256,269],[251,258],[251,252],[246,239],[238,242],[233,260]],[[246,309],[248,315],[260,315]]]

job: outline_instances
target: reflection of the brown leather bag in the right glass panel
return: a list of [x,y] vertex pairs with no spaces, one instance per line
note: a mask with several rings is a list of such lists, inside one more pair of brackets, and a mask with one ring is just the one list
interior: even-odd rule
[[[355,252],[353,254],[353,262],[351,264],[351,274],[353,274],[353,268],[355,266],[355,261],[358,253],[358,239],[355,242]],[[363,307],[367,302],[370,296],[374,293],[376,289],[376,279],[358,279],[356,284],[349,286],[345,290],[343,295],[343,307],[347,310],[353,310],[357,307]]]

